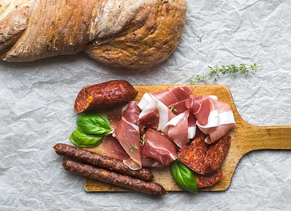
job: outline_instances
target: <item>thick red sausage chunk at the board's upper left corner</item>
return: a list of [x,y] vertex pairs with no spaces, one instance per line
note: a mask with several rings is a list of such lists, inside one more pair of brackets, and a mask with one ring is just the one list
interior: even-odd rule
[[107,81],[83,88],[76,100],[75,111],[81,113],[88,108],[120,105],[131,101],[137,90],[125,80]]

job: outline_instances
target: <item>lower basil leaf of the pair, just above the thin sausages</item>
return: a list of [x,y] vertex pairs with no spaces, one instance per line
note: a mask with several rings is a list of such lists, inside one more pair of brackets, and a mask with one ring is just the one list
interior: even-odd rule
[[105,136],[95,137],[83,134],[79,129],[75,130],[69,140],[78,147],[95,147],[101,143]]

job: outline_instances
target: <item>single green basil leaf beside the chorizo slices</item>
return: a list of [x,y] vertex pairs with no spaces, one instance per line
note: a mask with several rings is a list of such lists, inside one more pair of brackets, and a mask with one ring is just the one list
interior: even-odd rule
[[186,191],[197,193],[198,187],[192,170],[185,166],[179,159],[172,162],[172,175],[174,180]]

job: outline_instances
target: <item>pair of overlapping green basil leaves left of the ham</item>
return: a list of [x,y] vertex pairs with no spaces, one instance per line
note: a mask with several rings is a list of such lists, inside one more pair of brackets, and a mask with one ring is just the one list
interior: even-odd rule
[[78,147],[95,147],[112,131],[109,121],[98,114],[79,116],[76,122],[78,129],[69,140]]

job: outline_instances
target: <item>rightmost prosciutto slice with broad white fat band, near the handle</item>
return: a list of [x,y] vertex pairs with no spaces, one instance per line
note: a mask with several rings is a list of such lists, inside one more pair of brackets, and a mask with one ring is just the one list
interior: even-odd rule
[[186,101],[186,107],[197,119],[196,123],[209,144],[217,141],[236,126],[230,105],[215,100],[214,96],[198,96]]

